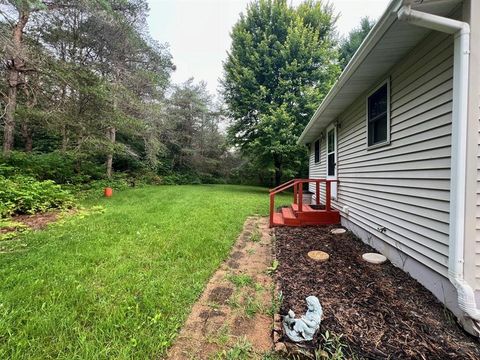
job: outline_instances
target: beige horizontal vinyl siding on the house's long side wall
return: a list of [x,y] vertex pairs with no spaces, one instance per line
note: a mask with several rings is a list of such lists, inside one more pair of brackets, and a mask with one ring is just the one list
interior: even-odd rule
[[447,276],[452,37],[432,33],[379,83],[388,76],[389,145],[367,149],[365,96],[337,119],[340,184],[334,206],[348,206],[354,224]]

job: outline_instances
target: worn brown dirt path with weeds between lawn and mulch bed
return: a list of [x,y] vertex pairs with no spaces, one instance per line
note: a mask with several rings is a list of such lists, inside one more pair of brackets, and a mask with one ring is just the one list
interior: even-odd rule
[[[256,241],[250,240],[253,232],[259,234]],[[248,343],[249,359],[262,359],[273,345],[273,279],[267,275],[272,261],[267,219],[248,218],[229,259],[193,306],[167,358],[224,358],[239,344]]]

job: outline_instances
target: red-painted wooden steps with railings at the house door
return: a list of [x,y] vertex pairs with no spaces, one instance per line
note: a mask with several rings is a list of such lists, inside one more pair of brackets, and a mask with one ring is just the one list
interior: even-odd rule
[[[320,184],[325,184],[325,206],[317,210],[303,204],[303,184],[315,183],[315,203],[320,205]],[[337,180],[293,179],[270,190],[270,227],[334,225],[340,223],[340,213],[331,207],[331,183]],[[293,187],[293,204],[275,211],[275,195]]]

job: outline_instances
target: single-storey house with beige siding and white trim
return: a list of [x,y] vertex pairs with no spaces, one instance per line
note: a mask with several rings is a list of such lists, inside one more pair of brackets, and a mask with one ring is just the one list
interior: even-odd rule
[[[323,223],[338,214],[476,335],[479,100],[480,1],[393,0],[298,140],[310,151],[301,182],[330,203]],[[319,210],[295,184],[300,221]]]

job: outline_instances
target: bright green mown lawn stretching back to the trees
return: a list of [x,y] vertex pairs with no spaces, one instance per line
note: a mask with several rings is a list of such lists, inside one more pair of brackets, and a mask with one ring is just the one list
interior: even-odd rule
[[245,218],[267,214],[267,194],[132,189],[20,235],[23,251],[0,254],[0,359],[161,357]]

